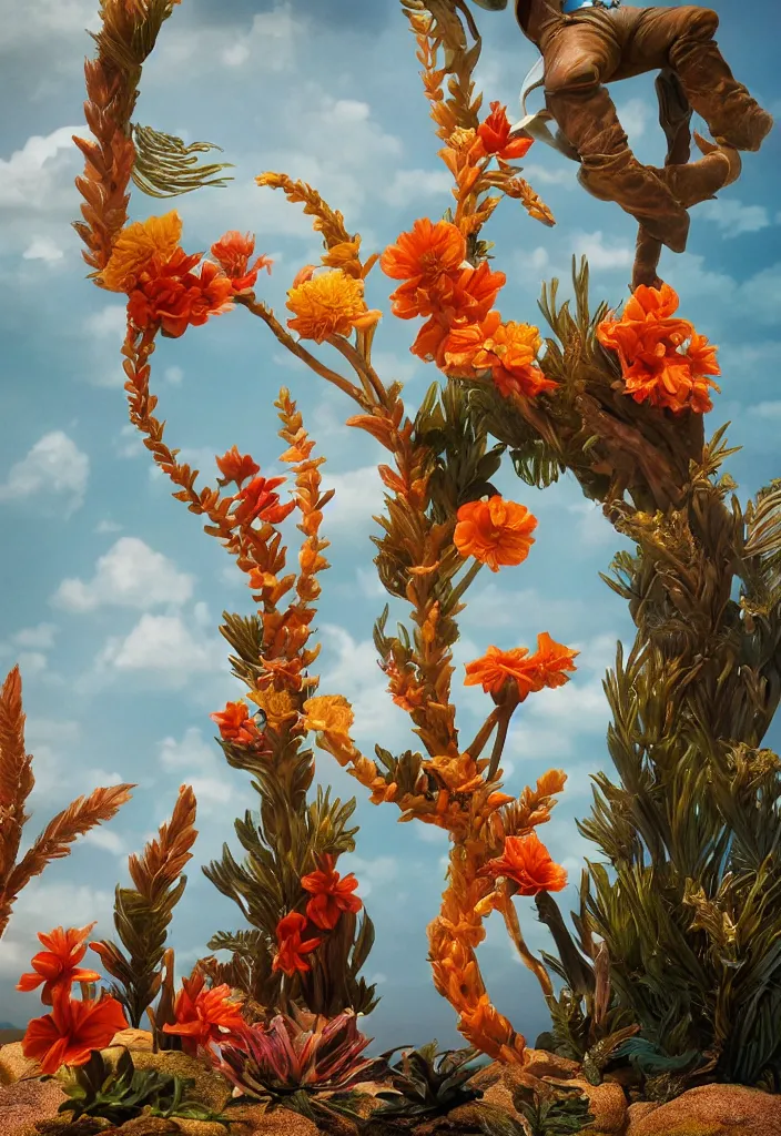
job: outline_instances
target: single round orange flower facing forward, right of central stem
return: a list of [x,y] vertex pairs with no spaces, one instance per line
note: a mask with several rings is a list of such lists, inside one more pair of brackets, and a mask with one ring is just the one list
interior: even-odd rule
[[498,571],[499,565],[522,563],[535,543],[536,517],[524,506],[498,495],[462,504],[457,521],[453,543],[461,556],[475,557],[492,571]]

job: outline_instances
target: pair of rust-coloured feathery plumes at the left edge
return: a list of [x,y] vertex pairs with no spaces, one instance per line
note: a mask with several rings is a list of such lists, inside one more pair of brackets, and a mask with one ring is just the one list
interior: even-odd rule
[[33,755],[25,753],[22,676],[14,667],[0,691],[0,936],[14,902],[33,876],[52,860],[69,855],[68,845],[95,825],[110,820],[129,801],[135,785],[96,788],[58,812],[17,863],[22,830],[31,815],[24,810],[33,791]]

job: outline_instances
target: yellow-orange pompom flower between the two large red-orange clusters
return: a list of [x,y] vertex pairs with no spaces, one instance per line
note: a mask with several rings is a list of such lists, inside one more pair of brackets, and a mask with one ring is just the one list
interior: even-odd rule
[[287,307],[295,315],[287,326],[302,340],[322,343],[330,335],[351,335],[353,328],[371,327],[381,311],[369,309],[363,299],[363,281],[334,268],[310,276],[287,293]]

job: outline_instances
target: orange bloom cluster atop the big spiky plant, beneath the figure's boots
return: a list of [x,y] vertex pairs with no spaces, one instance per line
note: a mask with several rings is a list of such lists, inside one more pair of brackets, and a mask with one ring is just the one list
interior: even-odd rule
[[624,390],[636,402],[650,402],[679,415],[713,409],[709,387],[720,387],[709,375],[720,375],[716,348],[685,319],[673,319],[678,295],[669,284],[641,284],[624,306],[620,319],[597,327],[603,346],[621,360]]

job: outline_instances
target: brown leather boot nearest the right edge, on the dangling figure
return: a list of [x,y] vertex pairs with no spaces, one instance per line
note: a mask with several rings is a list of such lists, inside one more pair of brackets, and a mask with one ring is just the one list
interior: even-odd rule
[[670,62],[717,143],[736,150],[759,149],[773,128],[773,117],[737,82],[713,40],[682,37],[673,44]]

